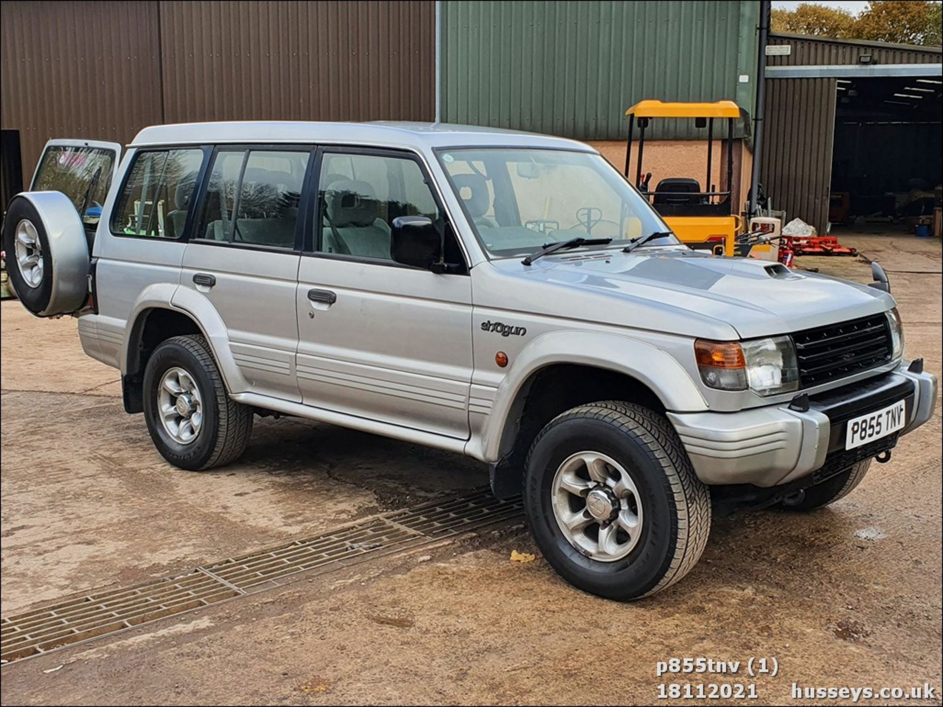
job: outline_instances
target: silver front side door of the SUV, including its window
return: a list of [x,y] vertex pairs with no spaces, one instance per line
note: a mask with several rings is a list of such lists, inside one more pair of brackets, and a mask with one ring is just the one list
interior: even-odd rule
[[298,271],[298,383],[307,405],[467,439],[471,278],[390,257],[395,217],[444,230],[428,184],[411,153],[323,150]]

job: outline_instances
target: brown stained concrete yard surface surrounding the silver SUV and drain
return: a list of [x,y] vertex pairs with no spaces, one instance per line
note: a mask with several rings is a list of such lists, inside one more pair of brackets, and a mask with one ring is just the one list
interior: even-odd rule
[[[885,265],[908,352],[938,374],[939,241],[842,241]],[[870,279],[852,258],[798,265]],[[229,468],[176,470],[141,416],[124,414],[117,373],[82,354],[73,320],[34,319],[11,301],[0,314],[5,617],[487,483],[465,458],[297,420],[257,420]],[[662,683],[752,683],[750,701],[782,704],[793,683],[930,683],[935,699],[908,701],[939,704],[940,434],[937,409],[830,508],[716,520],[695,570],[643,602],[583,594],[539,556],[510,562],[512,550],[537,552],[511,528],[3,667],[0,699],[651,704]],[[779,672],[657,677],[671,657],[776,658]]]

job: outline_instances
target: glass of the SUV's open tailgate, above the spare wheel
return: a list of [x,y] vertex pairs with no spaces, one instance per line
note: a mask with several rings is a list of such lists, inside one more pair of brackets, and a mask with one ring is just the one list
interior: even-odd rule
[[114,173],[113,150],[74,145],[50,145],[33,180],[33,191],[60,191],[76,209],[84,207],[82,220],[98,223]]

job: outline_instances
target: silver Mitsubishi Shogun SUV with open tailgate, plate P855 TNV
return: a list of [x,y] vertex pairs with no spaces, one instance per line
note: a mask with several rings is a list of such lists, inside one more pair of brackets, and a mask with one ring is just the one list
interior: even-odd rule
[[711,514],[811,510],[935,409],[874,286],[688,249],[571,140],[221,122],[54,140],[9,279],[73,314],[157,451],[229,464],[295,415],[490,465],[573,585],[678,581]]

